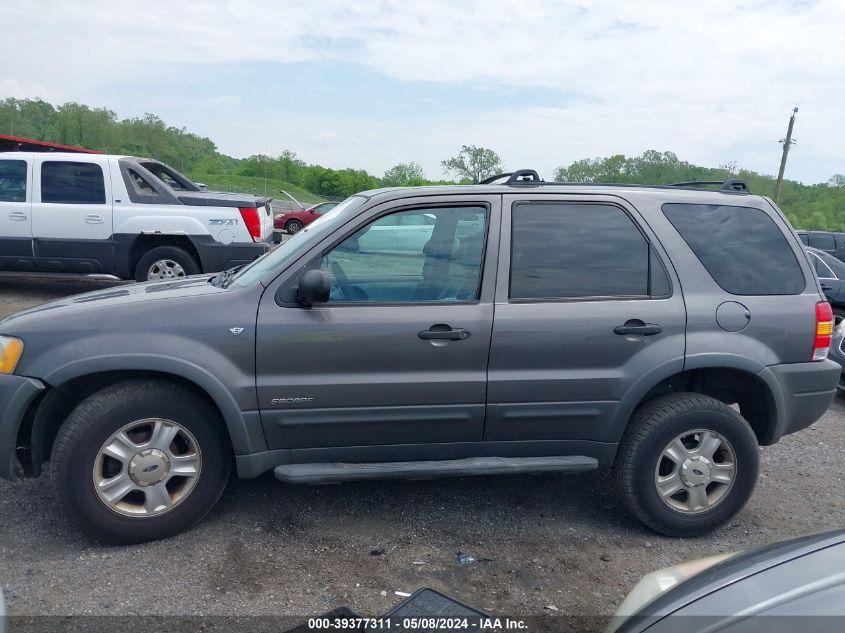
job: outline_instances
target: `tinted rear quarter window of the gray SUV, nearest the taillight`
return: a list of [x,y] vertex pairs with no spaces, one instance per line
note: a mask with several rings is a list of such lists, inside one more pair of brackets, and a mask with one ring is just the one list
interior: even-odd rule
[[760,209],[664,204],[663,213],[727,292],[785,295],[804,290],[804,275],[789,242]]

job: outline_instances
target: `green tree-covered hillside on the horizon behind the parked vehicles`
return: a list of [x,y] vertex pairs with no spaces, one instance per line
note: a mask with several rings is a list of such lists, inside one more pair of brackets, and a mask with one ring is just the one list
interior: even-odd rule
[[[185,128],[169,126],[154,114],[119,119],[106,108],[78,103],[53,106],[40,99],[0,100],[0,131],[108,153],[151,156],[213,189],[261,195],[266,192],[274,198],[280,198],[279,190],[284,189],[303,203],[318,202],[324,197],[345,198],[383,183],[381,178],[364,170],[308,164],[287,149],[277,156],[259,154],[233,158],[220,153],[211,139]],[[492,154],[495,156],[495,152]],[[795,156],[791,160],[797,159]],[[397,165],[385,177],[405,166]],[[418,165],[416,168],[419,173],[412,180],[391,180],[391,184],[430,183],[419,177],[422,168]],[[845,165],[842,171],[845,171]],[[672,152],[654,150],[634,157],[614,155],[577,160],[560,167],[554,178],[570,182],[640,184],[743,178],[753,193],[770,196],[774,190],[771,176],[742,169],[735,163],[701,167],[679,159]],[[798,228],[845,230],[845,176],[833,175],[828,183],[817,185],[786,180],[780,206]]]

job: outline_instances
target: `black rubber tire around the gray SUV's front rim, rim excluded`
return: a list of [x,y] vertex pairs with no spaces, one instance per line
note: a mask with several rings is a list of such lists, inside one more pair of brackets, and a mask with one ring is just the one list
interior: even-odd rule
[[[190,431],[202,467],[189,493],[155,516],[119,514],[100,499],[94,465],[100,448],[135,420],[164,418]],[[232,450],[218,412],[194,392],[160,380],[118,383],[83,400],[62,424],[53,444],[50,477],[57,501],[95,540],[110,544],[153,541],[177,534],[204,517],[226,487]]]

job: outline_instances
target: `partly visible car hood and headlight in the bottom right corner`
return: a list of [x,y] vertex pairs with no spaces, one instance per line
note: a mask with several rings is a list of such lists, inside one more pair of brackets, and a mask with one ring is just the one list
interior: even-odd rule
[[634,587],[605,633],[841,631],[843,570],[845,530],[667,567]]

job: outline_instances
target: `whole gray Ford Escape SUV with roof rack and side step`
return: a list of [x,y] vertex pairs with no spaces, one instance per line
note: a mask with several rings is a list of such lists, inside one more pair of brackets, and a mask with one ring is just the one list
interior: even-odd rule
[[369,191],[239,270],[0,322],[0,476],[48,469],[89,534],[129,543],[200,519],[233,467],[612,467],[634,516],[696,535],[746,503],[758,446],[827,409],[831,320],[742,183]]

